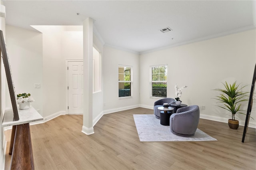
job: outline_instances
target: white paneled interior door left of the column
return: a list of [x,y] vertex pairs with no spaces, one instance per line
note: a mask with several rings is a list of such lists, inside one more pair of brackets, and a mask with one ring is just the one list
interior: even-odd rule
[[68,61],[68,114],[83,113],[83,61]]

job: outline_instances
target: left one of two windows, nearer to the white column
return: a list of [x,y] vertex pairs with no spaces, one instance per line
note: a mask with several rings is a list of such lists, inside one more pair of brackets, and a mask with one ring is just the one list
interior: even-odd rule
[[132,96],[132,67],[118,65],[118,96],[127,98]]

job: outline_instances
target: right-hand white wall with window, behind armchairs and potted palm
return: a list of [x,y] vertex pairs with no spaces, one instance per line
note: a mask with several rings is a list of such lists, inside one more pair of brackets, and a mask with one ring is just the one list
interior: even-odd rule
[[[149,97],[150,65],[168,64],[167,97],[175,97],[174,86],[187,85],[181,100],[187,105],[199,105],[200,117],[224,121],[231,119],[231,114],[216,106],[212,98],[217,95],[215,88],[221,88],[221,82],[237,81],[249,85],[256,63],[256,30],[232,34],[190,43],[187,45],[162,49],[140,55],[140,103],[142,107],[153,109],[154,101]],[[202,105],[205,110],[202,110]],[[244,109],[247,110],[247,103]],[[254,102],[252,117],[256,120]],[[236,115],[244,125],[245,115]],[[250,126],[256,127],[250,119]]]

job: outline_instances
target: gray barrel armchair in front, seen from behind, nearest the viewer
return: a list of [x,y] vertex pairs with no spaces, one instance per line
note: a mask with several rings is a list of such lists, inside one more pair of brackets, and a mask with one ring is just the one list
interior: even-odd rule
[[200,110],[197,105],[182,107],[170,116],[170,130],[178,136],[194,136],[199,123]]

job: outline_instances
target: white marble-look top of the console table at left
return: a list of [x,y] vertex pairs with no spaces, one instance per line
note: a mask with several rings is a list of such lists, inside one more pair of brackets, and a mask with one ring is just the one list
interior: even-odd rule
[[19,109],[18,114],[20,119],[18,121],[13,121],[12,109],[6,109],[4,112],[4,120],[2,123],[2,127],[22,125],[25,123],[42,121],[44,119],[32,106],[29,109],[24,109],[24,110]]

